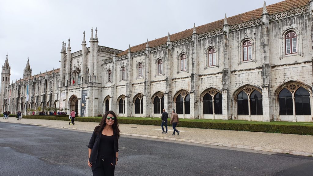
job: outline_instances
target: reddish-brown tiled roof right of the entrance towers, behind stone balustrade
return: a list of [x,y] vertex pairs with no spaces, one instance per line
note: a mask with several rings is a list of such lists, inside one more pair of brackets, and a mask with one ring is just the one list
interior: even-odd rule
[[[284,12],[284,11],[291,10],[294,8],[306,6],[306,5],[308,5],[309,1],[310,0],[286,0],[286,1],[276,3],[276,4],[268,5],[266,7],[267,7],[268,13],[270,15],[272,15],[275,13],[280,13],[280,12]],[[261,4],[260,4],[260,6],[261,6]],[[261,18],[262,12],[263,12],[263,7],[249,11],[249,12],[246,12],[246,13],[242,13],[239,15],[228,17],[227,21],[228,21],[229,25],[244,23],[244,22],[247,22],[250,20]],[[215,21],[212,23],[198,26],[198,27],[196,27],[196,31],[197,31],[197,34],[210,32],[210,31],[213,31],[216,29],[223,28],[223,24],[224,24],[224,19],[221,19],[221,20],[218,20],[218,21]],[[185,39],[187,37],[191,37],[192,32],[193,32],[193,28],[187,29],[185,31],[170,35],[170,39],[171,39],[171,41],[177,41],[180,39]],[[159,39],[151,40],[151,41],[149,41],[149,47],[152,48],[155,46],[166,44],[166,42],[167,42],[167,36],[159,38]],[[131,52],[140,51],[140,50],[143,50],[145,48],[146,48],[146,43],[139,44],[139,45],[131,47]],[[125,55],[125,54],[127,54],[127,52],[128,52],[128,49],[125,50],[124,52],[122,52],[121,54],[118,54],[118,55],[119,56]]]

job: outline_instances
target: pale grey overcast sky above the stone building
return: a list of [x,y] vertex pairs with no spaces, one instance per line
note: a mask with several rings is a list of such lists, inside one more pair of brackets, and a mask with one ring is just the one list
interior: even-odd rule
[[[0,65],[8,53],[11,80],[60,67],[62,41],[81,50],[97,27],[99,45],[121,50],[263,7],[263,0],[0,0]],[[280,0],[267,0],[266,4]],[[95,32],[95,31],[94,31]],[[95,34],[95,33],[94,33]]]

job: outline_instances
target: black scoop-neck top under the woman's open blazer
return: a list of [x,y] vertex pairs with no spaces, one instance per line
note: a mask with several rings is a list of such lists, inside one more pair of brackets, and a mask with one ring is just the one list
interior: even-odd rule
[[101,134],[98,157],[102,155],[104,156],[105,159],[113,160],[114,158],[113,146],[114,146],[114,135],[105,136]]

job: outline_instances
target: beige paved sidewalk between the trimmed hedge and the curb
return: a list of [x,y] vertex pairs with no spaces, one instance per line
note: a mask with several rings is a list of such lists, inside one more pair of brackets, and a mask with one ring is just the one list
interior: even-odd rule
[[[32,124],[48,127],[67,128],[83,131],[93,131],[96,122],[75,122],[69,125],[69,121],[22,119],[16,120],[0,118],[0,122]],[[228,130],[212,130],[199,128],[177,127],[179,136],[172,135],[172,127],[168,127],[168,133],[162,134],[161,126],[120,124],[121,134],[141,137],[151,137],[183,142],[194,142],[207,145],[217,145],[232,148],[245,148],[276,153],[290,153],[294,155],[313,155],[313,136],[295,134],[277,134],[263,132],[243,132]]]

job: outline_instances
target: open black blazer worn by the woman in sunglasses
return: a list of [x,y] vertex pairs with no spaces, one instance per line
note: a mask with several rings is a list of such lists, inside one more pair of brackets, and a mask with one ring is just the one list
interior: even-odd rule
[[[99,132],[99,134],[95,133],[95,131],[92,133],[92,136],[90,138],[88,148],[92,149],[90,153],[89,162],[90,163],[97,163],[97,157],[98,157],[98,151],[99,151],[99,145],[100,145],[100,139],[101,139],[102,130]],[[116,134],[113,131],[114,135],[114,160],[116,161],[116,152],[118,152],[118,139],[116,138]],[[116,162],[113,162],[113,166],[115,166]]]

